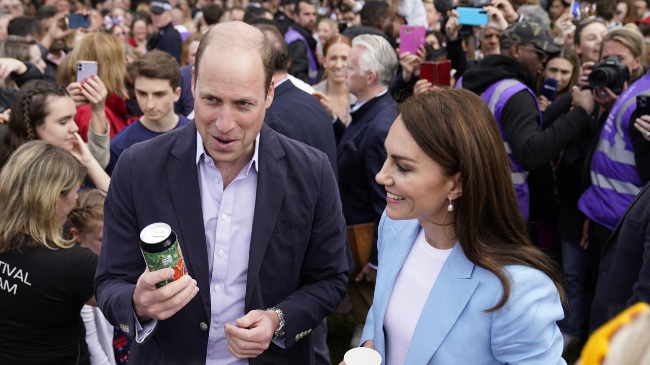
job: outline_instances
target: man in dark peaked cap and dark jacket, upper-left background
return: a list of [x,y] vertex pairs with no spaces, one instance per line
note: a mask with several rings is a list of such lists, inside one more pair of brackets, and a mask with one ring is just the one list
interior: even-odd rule
[[149,6],[151,6],[151,21],[158,32],[149,40],[147,48],[165,51],[181,62],[183,40],[181,34],[172,25],[172,5],[168,0],[155,0],[151,1]]

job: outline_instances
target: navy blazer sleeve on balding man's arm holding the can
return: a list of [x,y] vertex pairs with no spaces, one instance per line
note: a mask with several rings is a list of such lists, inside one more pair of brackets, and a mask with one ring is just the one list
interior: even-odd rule
[[133,291],[146,267],[138,245],[140,232],[131,184],[133,151],[130,148],[122,153],[123,158],[112,173],[104,202],[104,233],[95,275],[95,296],[101,312],[110,324],[127,329],[124,333],[131,338],[135,338],[136,329]]

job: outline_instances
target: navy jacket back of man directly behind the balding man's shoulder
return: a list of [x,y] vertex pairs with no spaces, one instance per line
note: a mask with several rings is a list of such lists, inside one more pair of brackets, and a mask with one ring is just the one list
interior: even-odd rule
[[313,96],[287,80],[277,88],[273,103],[266,109],[265,123],[291,139],[324,152],[336,173],[336,141],[331,118]]

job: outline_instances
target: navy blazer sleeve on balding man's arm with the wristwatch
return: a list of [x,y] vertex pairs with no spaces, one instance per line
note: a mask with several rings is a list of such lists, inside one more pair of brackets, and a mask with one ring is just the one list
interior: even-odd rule
[[339,189],[326,155],[319,153],[319,156],[320,192],[300,270],[304,285],[276,305],[285,316],[287,349],[300,339],[296,339],[297,334],[316,328],[337,308],[346,293],[350,275]]

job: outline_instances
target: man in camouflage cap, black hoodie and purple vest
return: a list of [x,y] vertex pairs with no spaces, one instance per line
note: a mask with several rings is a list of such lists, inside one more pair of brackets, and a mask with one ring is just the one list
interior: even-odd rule
[[514,23],[502,32],[500,55],[484,58],[465,71],[460,86],[482,97],[493,112],[510,157],[510,171],[521,213],[530,211],[528,171],[558,156],[573,141],[593,110],[589,90],[574,90],[571,112],[541,131],[541,111],[534,92],[544,62],[560,51],[539,25]]

